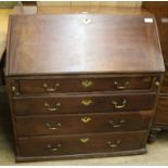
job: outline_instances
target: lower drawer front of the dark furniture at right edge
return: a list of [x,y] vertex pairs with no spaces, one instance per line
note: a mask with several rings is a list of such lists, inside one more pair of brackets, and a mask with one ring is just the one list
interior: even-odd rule
[[154,122],[168,125],[168,96],[159,98]]

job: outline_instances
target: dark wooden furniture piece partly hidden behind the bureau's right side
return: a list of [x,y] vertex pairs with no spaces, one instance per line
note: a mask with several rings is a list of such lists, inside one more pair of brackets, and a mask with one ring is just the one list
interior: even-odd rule
[[166,66],[166,73],[160,88],[156,115],[148,140],[150,142],[154,142],[158,132],[161,130],[168,130],[168,2],[143,2],[143,7],[156,17],[158,35]]

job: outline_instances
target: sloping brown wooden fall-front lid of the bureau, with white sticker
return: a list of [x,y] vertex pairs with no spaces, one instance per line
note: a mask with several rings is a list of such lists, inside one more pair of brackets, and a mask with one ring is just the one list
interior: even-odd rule
[[152,16],[11,15],[9,29],[7,75],[164,72]]

